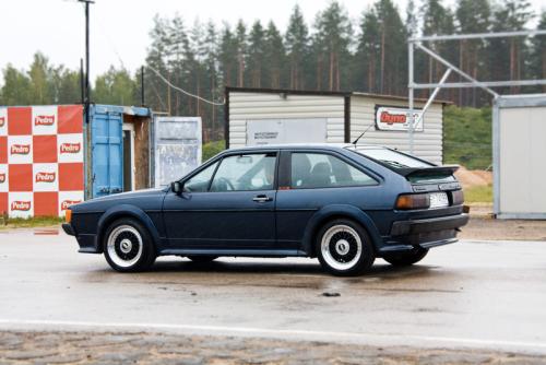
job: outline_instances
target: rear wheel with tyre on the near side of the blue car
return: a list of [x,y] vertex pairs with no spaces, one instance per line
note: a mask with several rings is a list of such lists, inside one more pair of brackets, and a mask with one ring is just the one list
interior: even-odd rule
[[371,268],[376,259],[371,239],[357,223],[341,219],[327,223],[318,233],[319,261],[339,276],[358,275]]

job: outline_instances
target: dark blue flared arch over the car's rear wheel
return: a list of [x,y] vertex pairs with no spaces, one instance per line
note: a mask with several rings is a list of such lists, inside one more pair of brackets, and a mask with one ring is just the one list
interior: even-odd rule
[[317,234],[319,229],[328,222],[337,220],[337,219],[347,219],[355,221],[360,224],[364,229],[368,233],[371,238],[371,244],[376,250],[379,250],[381,246],[381,236],[379,234],[376,224],[371,220],[371,217],[366,214],[363,210],[358,209],[355,205],[349,204],[332,204],[327,205],[317,211],[311,219],[309,220],[306,231],[304,233],[304,250],[310,257],[316,257],[314,251],[314,243],[317,240]]

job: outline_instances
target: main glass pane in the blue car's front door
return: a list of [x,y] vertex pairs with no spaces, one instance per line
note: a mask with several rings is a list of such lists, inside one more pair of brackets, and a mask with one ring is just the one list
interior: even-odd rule
[[272,190],[276,153],[241,154],[222,160],[211,191]]

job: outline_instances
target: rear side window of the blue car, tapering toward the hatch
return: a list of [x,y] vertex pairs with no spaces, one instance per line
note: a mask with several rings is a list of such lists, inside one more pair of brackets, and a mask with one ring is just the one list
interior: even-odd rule
[[292,153],[292,189],[377,185],[376,179],[325,153]]

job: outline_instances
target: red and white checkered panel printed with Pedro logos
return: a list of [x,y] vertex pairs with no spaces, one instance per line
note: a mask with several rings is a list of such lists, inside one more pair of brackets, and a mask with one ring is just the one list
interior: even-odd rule
[[0,213],[63,216],[83,178],[81,105],[0,107]]

